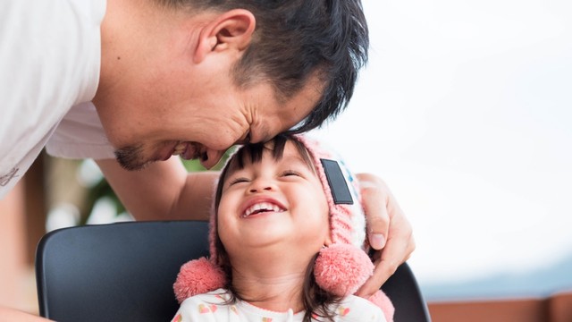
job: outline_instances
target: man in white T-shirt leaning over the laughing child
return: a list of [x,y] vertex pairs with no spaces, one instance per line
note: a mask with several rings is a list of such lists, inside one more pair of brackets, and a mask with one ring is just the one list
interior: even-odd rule
[[[216,174],[172,155],[211,167],[334,118],[368,47],[358,0],[9,0],[0,36],[0,198],[46,146],[96,159],[138,220],[205,217]],[[358,178],[383,248],[365,296],[415,246],[383,182]]]

